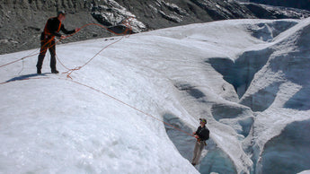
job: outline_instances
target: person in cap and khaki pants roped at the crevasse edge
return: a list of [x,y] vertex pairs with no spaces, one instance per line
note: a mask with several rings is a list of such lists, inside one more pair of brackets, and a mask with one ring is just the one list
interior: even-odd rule
[[200,120],[200,126],[198,127],[197,131],[193,133],[193,135],[195,135],[195,137],[197,138],[197,142],[195,144],[194,149],[194,156],[191,161],[191,164],[193,166],[199,163],[201,152],[207,145],[206,140],[208,140],[209,138],[209,130],[206,126],[207,120],[205,118],[199,118],[199,120]]

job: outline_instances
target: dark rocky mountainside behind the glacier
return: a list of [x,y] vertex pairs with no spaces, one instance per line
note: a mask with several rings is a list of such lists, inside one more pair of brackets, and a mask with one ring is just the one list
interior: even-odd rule
[[[274,10],[232,0],[4,1],[0,4],[0,39],[14,40],[14,43],[2,44],[0,54],[39,48],[45,22],[58,10],[68,13],[64,22],[68,30],[99,22],[117,33],[126,31],[127,34],[215,20],[310,16],[302,11],[290,9],[291,13],[283,13],[281,11],[286,9]],[[108,30],[91,25],[63,43],[113,35]]]

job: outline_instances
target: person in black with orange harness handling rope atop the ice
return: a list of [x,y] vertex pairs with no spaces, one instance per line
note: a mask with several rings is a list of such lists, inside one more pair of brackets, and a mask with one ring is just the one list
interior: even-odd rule
[[65,39],[66,36],[61,35],[59,31],[63,31],[65,34],[72,34],[78,31],[75,30],[66,30],[64,25],[61,24],[66,18],[65,11],[59,11],[57,17],[49,18],[48,22],[45,24],[44,31],[41,34],[40,41],[40,55],[38,57],[37,63],[37,73],[41,74],[41,68],[43,64],[43,60],[47,50],[49,49],[50,53],[50,69],[51,73],[58,74],[58,70],[56,69],[56,47],[55,47],[55,36],[60,39]]

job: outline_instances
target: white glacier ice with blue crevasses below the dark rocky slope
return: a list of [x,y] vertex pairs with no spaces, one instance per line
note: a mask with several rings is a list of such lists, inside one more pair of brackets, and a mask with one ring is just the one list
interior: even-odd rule
[[[57,54],[75,68],[117,39]],[[59,62],[49,73],[49,54],[40,75],[36,56],[4,66],[0,173],[307,173],[309,46],[310,18],[231,20],[123,38],[73,80]],[[195,168],[195,139],[160,120],[191,134],[199,117],[210,139]]]

